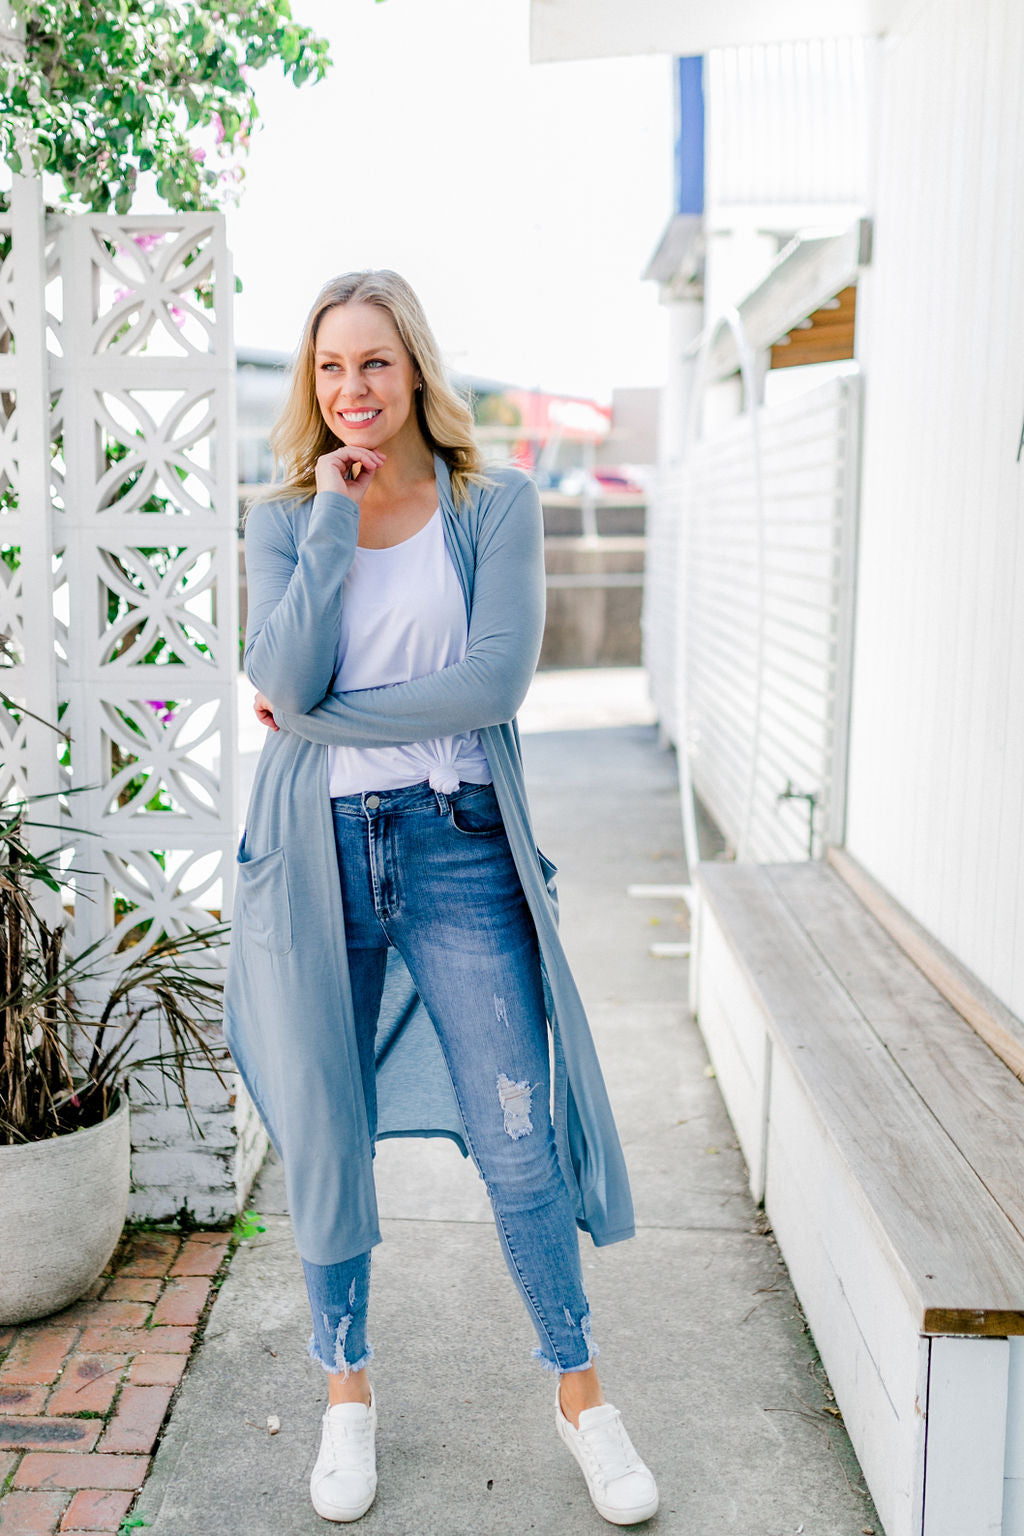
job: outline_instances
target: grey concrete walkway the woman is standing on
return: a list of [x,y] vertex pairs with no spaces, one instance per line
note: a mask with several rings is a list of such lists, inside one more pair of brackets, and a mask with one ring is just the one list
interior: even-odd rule
[[[605,1392],[662,1488],[643,1528],[881,1536],[686,1015],[686,960],[649,955],[652,940],[686,937],[686,909],[626,895],[685,879],[674,759],[643,723],[642,674],[540,674],[522,719],[537,837],[560,865],[562,931],[634,1184],[636,1241],[597,1250],[583,1236],[582,1252]],[[530,1359],[471,1166],[448,1143],[387,1141],[378,1189],[379,1493],[356,1528],[609,1530],[554,1436],[553,1378]],[[150,1536],[329,1528],[307,1491],[324,1373],[306,1353],[275,1163],[250,1204],[267,1230],[238,1250],[157,1452],[137,1510]]]

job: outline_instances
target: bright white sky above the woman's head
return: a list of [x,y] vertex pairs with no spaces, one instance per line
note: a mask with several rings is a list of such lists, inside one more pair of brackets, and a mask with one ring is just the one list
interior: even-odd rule
[[608,399],[660,384],[642,272],[671,214],[666,57],[530,63],[528,0],[292,0],[335,68],[253,75],[229,244],[238,346],[292,352],[321,284],[393,267],[448,366]]

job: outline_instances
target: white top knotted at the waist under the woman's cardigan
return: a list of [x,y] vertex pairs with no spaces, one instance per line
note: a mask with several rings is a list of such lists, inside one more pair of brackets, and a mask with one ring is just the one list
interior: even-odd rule
[[[465,599],[444,539],[441,508],[419,533],[388,550],[356,548],[344,581],[338,670],[332,688],[384,688],[441,671],[465,657]],[[330,794],[402,790],[430,782],[490,783],[477,731],[408,746],[332,746]]]

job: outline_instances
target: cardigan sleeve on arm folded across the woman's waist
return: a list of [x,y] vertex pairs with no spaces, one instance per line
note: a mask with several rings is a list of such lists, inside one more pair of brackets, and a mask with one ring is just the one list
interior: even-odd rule
[[312,742],[387,746],[511,720],[543,634],[543,519],[533,481],[481,518],[465,659],[388,688],[333,693],[313,708],[278,705],[275,720]]

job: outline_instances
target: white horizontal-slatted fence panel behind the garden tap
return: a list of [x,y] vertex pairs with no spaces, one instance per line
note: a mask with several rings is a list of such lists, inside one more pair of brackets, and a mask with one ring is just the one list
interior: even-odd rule
[[[699,442],[686,499],[686,700],[694,785],[745,857],[806,859],[829,819],[844,710],[841,550],[855,504],[855,378],[740,418]],[[763,579],[763,587],[761,587]],[[760,677],[758,677],[760,656]],[[760,682],[760,703],[758,703]]]

